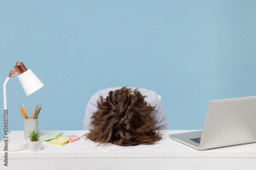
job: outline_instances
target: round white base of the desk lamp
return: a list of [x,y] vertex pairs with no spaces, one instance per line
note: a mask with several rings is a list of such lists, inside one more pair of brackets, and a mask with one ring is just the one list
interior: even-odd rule
[[[26,150],[27,148],[27,140],[26,139],[9,139],[8,141],[8,151],[19,151]],[[0,150],[3,150],[4,142],[3,140],[0,142]]]

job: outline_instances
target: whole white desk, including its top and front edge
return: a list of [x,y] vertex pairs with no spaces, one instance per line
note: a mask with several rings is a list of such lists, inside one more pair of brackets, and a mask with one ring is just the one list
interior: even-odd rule
[[[56,131],[42,131],[53,133]],[[68,132],[68,131],[60,131]],[[78,135],[86,131],[73,131]],[[184,131],[161,131],[164,135]],[[10,139],[23,138],[23,131],[12,131]],[[9,168],[15,170],[113,170],[113,169],[256,169],[256,144],[243,144],[215,150],[198,151],[166,139],[159,149],[131,148],[107,152],[84,140],[63,146],[55,146],[44,142],[44,149],[38,152],[21,150],[9,152]],[[3,167],[3,151],[0,157],[0,169]]]

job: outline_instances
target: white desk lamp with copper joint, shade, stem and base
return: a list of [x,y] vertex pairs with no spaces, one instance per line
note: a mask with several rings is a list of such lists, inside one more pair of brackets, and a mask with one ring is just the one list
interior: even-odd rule
[[[15,70],[9,72],[9,77],[3,83],[3,110],[4,110],[4,138],[8,140],[8,110],[7,110],[7,97],[6,97],[6,85],[11,77],[14,77],[18,73],[18,78],[22,88],[26,95],[33,94],[38,89],[43,88],[44,84],[34,75],[31,70],[27,70],[26,66],[22,62],[16,62]],[[7,128],[7,129],[6,129]],[[8,150],[24,150],[26,144],[21,140],[10,140],[8,143]],[[2,144],[1,144],[2,145]],[[3,150],[2,146],[1,149]]]

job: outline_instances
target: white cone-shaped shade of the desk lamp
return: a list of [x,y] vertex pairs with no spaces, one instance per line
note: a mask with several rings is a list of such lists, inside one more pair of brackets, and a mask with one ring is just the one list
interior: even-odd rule
[[18,78],[26,95],[33,94],[38,89],[44,87],[44,84],[30,69],[20,74]]

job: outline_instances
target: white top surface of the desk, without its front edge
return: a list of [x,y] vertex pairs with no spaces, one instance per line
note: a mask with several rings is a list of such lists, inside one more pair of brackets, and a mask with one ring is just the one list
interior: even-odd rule
[[[41,131],[41,133],[55,133],[55,132],[74,132],[78,135],[87,133],[87,131]],[[225,158],[255,158],[256,157],[256,143],[255,144],[242,144],[237,146],[225,147],[214,150],[194,150],[189,148],[184,144],[180,144],[168,137],[171,133],[183,133],[188,131],[182,130],[166,130],[160,131],[163,135],[166,135],[166,140],[164,140],[158,149],[138,149],[136,146],[126,149],[126,150],[116,150],[116,151],[104,151],[96,146],[88,144],[84,139],[80,139],[71,144],[65,144],[63,146],[55,146],[43,142],[43,150],[38,152],[32,152],[30,150],[21,151],[9,151],[10,159],[20,159],[20,158],[104,158],[104,157],[169,157],[169,158],[179,158],[179,157],[225,157]],[[24,136],[23,131],[12,131],[9,133],[9,139],[22,139]],[[3,151],[1,151],[3,154]],[[1,155],[2,155],[1,154]],[[0,159],[3,159],[1,156]]]

